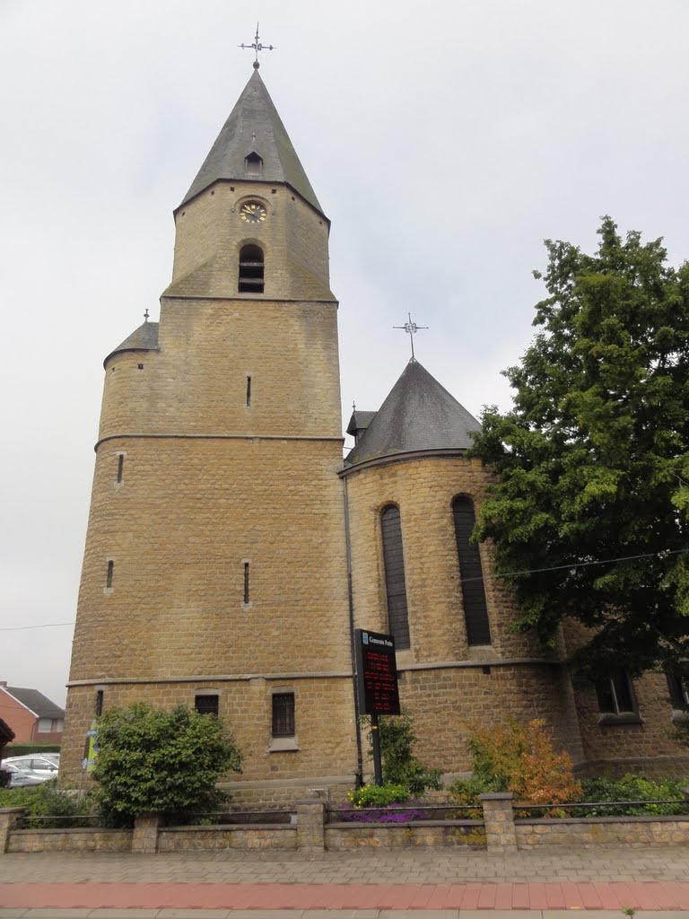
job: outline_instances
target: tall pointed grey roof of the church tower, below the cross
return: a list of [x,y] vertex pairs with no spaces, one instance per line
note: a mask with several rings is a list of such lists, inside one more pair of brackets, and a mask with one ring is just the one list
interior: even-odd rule
[[[246,168],[246,157],[250,153],[257,153],[263,160],[260,175]],[[299,163],[299,156],[258,70],[254,70],[244,86],[230,118],[225,121],[182,204],[219,179],[285,182],[322,212],[311,182]]]

